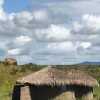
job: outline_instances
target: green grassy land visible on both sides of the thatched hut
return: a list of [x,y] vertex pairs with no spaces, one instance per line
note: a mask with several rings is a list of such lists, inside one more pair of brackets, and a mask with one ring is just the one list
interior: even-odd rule
[[[46,66],[39,66],[34,64],[26,64],[20,66],[11,66],[0,63],[0,100],[11,100],[13,86],[16,79],[35,72]],[[58,65],[62,70],[79,69],[89,73],[100,82],[100,65]],[[94,88],[94,97],[100,100],[100,87]]]

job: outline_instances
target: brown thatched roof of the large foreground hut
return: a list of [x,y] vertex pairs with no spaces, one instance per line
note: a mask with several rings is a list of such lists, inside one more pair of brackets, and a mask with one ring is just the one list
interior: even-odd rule
[[20,84],[34,85],[84,85],[96,86],[98,82],[86,73],[79,70],[63,71],[57,68],[47,67],[26,77],[17,80]]

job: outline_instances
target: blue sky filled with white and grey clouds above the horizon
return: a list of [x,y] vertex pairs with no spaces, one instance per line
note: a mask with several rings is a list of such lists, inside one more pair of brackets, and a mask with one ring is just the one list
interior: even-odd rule
[[99,0],[0,0],[0,59],[19,64],[100,61]]

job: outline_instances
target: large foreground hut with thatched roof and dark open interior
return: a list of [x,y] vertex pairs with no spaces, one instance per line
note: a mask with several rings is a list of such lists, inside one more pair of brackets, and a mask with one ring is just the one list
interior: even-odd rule
[[18,79],[12,100],[93,100],[96,85],[94,78],[79,70],[47,67]]

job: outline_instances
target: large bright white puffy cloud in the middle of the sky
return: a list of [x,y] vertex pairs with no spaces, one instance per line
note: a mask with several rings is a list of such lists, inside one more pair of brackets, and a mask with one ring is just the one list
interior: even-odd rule
[[[36,30],[37,38],[44,38],[47,41],[63,41],[67,40],[71,33],[70,29],[62,25],[53,25],[47,29],[37,29]],[[44,41],[44,39],[42,39]]]

